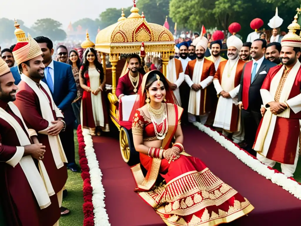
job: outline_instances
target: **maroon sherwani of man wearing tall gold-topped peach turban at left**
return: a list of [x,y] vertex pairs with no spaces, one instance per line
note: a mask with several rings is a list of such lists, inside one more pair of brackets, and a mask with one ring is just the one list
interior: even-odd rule
[[[37,86],[39,86],[37,84]],[[36,93],[27,85],[24,81],[21,81],[18,85],[19,90],[16,95],[15,105],[19,108],[26,126],[29,129],[34,129],[38,133],[41,130],[45,130],[48,127],[48,121],[43,119],[39,98]],[[47,96],[49,103],[51,103],[50,96],[46,90],[39,86],[40,89]],[[54,120],[57,120],[55,111],[50,105]],[[52,187],[55,193],[61,191],[67,181],[67,167],[63,166],[57,169],[54,162],[54,158],[51,152],[48,135],[38,133],[39,142],[46,146],[46,152],[44,154],[44,159],[42,160],[45,168],[48,172],[49,179],[51,181]]]

